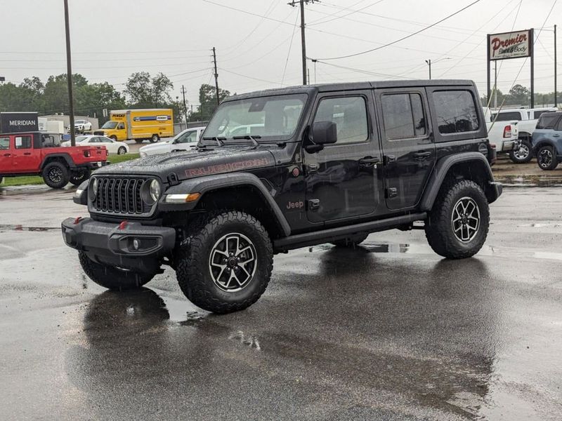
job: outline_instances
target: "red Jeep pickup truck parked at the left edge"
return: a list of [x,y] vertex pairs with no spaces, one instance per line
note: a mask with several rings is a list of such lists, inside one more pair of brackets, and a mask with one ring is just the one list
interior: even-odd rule
[[48,187],[62,189],[69,181],[79,185],[106,164],[105,146],[61,147],[58,134],[0,133],[0,182],[4,177],[41,175]]

